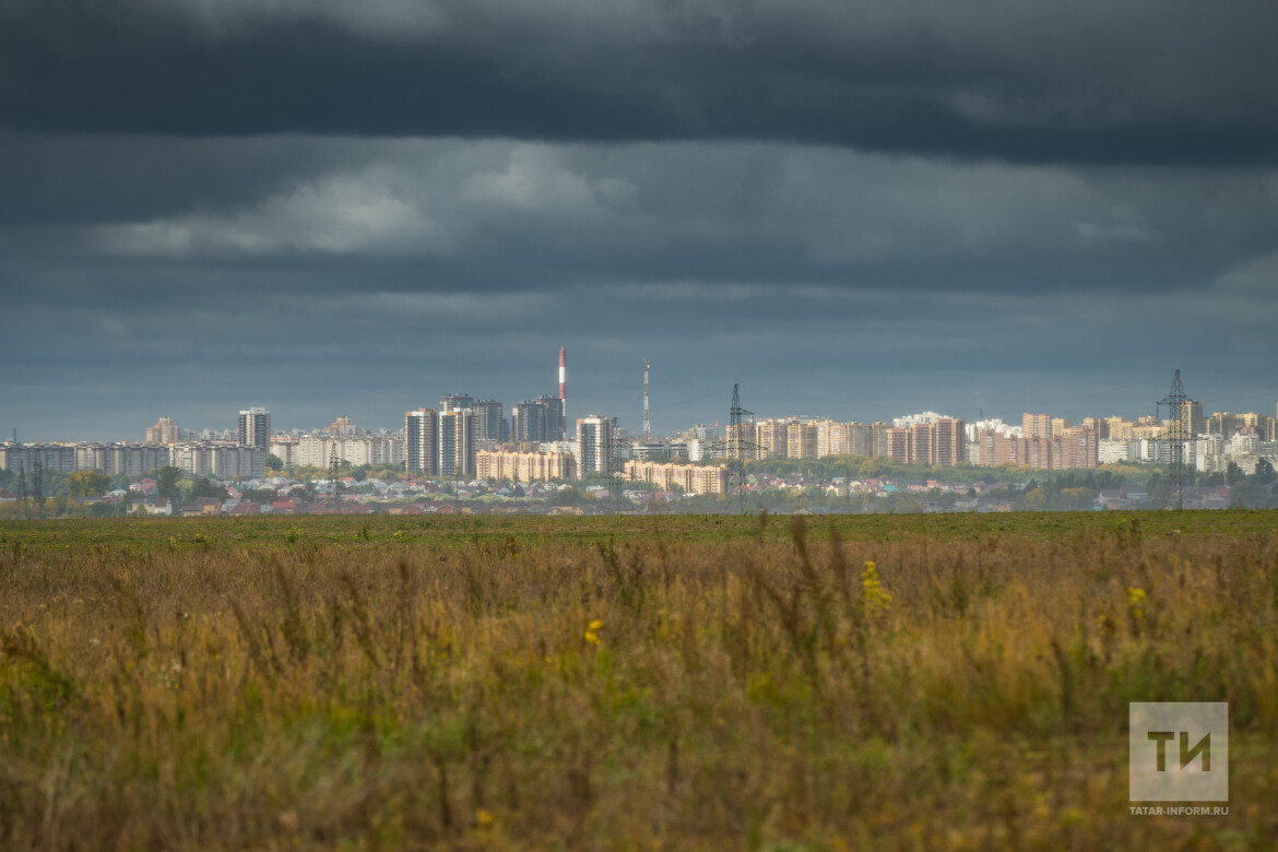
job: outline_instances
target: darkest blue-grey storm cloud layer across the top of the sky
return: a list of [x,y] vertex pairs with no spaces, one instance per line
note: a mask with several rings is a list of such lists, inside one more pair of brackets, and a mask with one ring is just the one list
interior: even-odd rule
[[23,130],[1278,158],[1268,0],[5,0],[0,24]]

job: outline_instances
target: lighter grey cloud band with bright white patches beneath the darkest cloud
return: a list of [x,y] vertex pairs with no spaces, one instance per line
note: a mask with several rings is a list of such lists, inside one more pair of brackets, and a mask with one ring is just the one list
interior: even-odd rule
[[[23,153],[0,160],[0,188],[14,190],[0,201],[5,257],[92,262],[95,280],[120,278],[112,293],[166,275],[208,286],[215,271],[221,289],[243,280],[250,293],[353,278],[377,291],[681,280],[1135,291],[1201,286],[1278,243],[1278,179],[1254,169],[758,143],[46,142],[22,137]],[[24,221],[28,194],[40,212]]]

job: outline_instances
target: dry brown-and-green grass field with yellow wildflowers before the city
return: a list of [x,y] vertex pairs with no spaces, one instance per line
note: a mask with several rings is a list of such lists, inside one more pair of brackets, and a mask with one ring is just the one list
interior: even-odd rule
[[335,846],[1275,848],[1278,513],[0,525],[0,847]]

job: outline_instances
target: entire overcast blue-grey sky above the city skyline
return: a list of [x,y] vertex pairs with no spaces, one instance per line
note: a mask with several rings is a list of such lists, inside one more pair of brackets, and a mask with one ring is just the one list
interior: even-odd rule
[[1273,0],[0,0],[0,437],[1278,402]]

